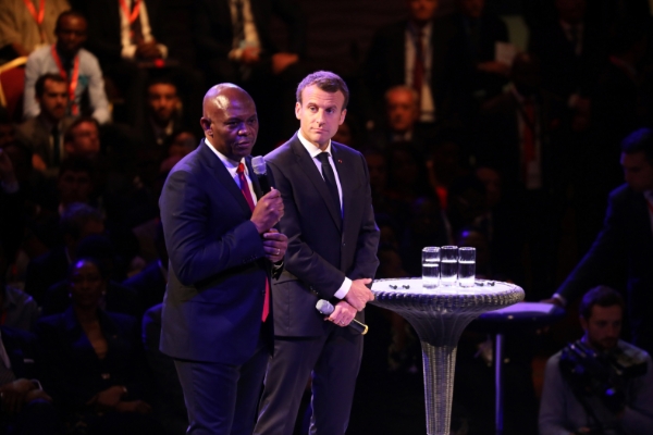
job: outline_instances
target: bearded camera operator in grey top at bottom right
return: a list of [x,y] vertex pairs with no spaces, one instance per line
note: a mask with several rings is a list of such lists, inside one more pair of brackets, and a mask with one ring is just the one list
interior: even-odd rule
[[651,357],[619,339],[623,316],[612,288],[584,295],[584,335],[546,363],[540,434],[653,434]]

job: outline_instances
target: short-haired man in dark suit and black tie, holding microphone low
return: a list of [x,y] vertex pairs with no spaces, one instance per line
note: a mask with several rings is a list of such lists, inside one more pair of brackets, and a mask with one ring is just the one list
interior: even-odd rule
[[[284,202],[280,231],[289,241],[273,286],[274,357],[255,434],[292,434],[311,372],[311,433],[344,434],[349,421],[362,336],[345,326],[373,299],[366,285],[379,265],[380,232],[365,158],[331,141],[348,95],[333,73],[308,75],[297,88],[299,132],[266,157]],[[316,310],[319,299],[335,304],[326,319]]]

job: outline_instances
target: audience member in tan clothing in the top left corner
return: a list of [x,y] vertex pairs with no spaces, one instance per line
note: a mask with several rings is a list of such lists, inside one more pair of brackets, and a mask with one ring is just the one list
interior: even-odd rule
[[67,0],[4,0],[0,3],[0,64],[29,55],[54,42],[57,17],[69,9]]

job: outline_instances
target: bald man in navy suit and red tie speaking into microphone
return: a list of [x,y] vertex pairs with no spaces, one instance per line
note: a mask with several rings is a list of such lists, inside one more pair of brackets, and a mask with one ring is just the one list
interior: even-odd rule
[[271,263],[287,247],[271,228],[284,204],[252,175],[258,117],[245,90],[209,89],[200,124],[205,139],[160,199],[170,253],[161,351],[175,359],[188,434],[251,434],[272,338]]

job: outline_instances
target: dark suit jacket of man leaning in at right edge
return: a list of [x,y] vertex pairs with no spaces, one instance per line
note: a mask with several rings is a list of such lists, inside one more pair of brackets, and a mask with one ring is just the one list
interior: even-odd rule
[[621,185],[609,194],[603,229],[557,293],[571,302],[625,266],[632,343],[653,351],[653,233],[646,199]]

